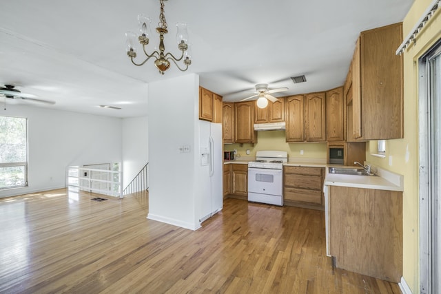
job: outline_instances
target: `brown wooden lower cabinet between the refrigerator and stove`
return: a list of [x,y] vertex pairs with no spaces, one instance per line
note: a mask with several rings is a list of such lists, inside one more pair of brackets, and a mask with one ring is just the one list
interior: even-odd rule
[[248,165],[224,165],[223,176],[224,198],[248,200]]

